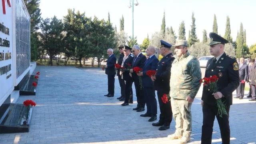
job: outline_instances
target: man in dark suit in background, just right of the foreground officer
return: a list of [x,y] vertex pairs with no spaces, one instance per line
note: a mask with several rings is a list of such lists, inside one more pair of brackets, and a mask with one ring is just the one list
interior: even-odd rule
[[240,58],[240,64],[239,64],[240,84],[239,84],[238,88],[236,89],[236,97],[234,97],[234,98],[243,99],[244,86],[245,86],[247,75],[248,75],[248,66],[244,62],[244,58]]

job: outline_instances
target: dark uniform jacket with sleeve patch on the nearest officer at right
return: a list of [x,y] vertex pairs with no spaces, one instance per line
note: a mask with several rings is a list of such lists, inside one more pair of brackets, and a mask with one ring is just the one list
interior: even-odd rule
[[[218,76],[218,91],[223,94],[221,100],[226,105],[232,105],[232,92],[239,86],[238,63],[236,59],[231,58],[226,53],[222,54],[215,66],[213,66],[213,59],[208,60],[204,76]],[[204,86],[203,88],[202,100],[209,105],[215,105],[216,99],[212,95],[212,92],[210,92],[208,86]]]

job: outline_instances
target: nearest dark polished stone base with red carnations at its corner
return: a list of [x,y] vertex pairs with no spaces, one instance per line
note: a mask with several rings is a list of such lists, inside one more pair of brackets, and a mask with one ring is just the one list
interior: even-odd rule
[[29,132],[33,108],[29,113],[23,104],[2,104],[0,107],[0,133]]

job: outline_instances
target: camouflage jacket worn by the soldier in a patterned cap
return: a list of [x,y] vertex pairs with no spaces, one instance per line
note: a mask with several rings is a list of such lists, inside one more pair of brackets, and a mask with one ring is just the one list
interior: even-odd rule
[[186,100],[188,96],[195,98],[202,73],[197,58],[187,52],[180,58],[175,55],[170,78],[170,96],[174,99]]

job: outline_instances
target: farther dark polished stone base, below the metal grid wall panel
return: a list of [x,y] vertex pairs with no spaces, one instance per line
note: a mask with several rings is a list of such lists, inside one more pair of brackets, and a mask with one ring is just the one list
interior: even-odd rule
[[19,83],[20,96],[36,95],[36,87],[32,86],[33,82],[38,83],[34,75],[26,75]]

